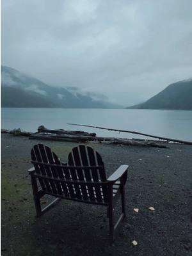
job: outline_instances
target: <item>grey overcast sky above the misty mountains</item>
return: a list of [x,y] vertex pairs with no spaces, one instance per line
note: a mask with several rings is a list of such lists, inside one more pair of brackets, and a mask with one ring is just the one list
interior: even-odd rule
[[1,63],[130,106],[192,77],[191,0],[2,0]]

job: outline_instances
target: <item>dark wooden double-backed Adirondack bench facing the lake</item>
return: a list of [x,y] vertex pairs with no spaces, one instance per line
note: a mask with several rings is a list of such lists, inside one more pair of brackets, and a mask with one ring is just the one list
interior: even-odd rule
[[[114,240],[114,232],[120,221],[125,220],[125,182],[128,165],[121,165],[108,179],[100,154],[92,147],[79,145],[68,155],[68,163],[61,163],[51,148],[37,144],[31,149],[31,163],[28,172],[35,201],[36,216],[42,215],[60,198],[108,207],[109,236]],[[47,195],[56,199],[42,209],[40,198]],[[116,198],[121,195],[122,213],[114,223]]]

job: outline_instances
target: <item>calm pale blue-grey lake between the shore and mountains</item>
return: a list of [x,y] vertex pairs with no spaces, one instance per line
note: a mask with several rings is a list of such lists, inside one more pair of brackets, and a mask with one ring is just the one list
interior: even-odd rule
[[36,132],[48,129],[96,132],[98,136],[147,138],[136,134],[103,131],[67,123],[138,131],[157,136],[192,141],[192,111],[148,109],[42,109],[1,108],[1,129],[20,128]]

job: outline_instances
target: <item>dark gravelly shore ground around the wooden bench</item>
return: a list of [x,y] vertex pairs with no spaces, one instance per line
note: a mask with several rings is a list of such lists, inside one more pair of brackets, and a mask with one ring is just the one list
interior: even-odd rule
[[[130,166],[128,218],[116,232],[115,243],[110,244],[106,207],[61,200],[40,218],[35,217],[28,169],[32,167],[31,147],[38,142],[10,134],[1,136],[2,255],[192,255],[191,146],[144,148],[90,143],[102,155],[108,175],[120,164]],[[76,146],[59,141],[43,143],[63,161]],[[155,211],[150,211],[150,206]],[[132,245],[133,240],[137,246]]]

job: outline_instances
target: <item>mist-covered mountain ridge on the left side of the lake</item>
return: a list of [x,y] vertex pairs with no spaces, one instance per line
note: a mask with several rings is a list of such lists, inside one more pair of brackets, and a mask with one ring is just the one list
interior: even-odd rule
[[1,99],[3,108],[122,108],[108,101],[95,100],[92,93],[82,94],[77,90],[74,94],[67,88],[50,86],[4,65],[1,66]]

